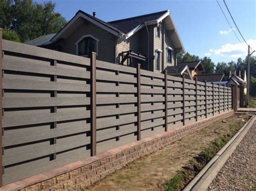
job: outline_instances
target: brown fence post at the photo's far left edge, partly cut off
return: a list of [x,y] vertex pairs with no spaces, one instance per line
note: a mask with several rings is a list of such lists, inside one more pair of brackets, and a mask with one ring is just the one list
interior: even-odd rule
[[3,111],[2,111],[2,61],[3,61],[3,44],[2,44],[2,37],[3,37],[3,29],[0,28],[0,68],[1,68],[1,74],[0,74],[0,88],[1,88],[1,97],[0,97],[0,126],[1,126],[1,131],[0,131],[0,187],[3,186],[3,148],[2,148],[2,139],[3,139],[3,129],[2,129],[2,116],[3,116]]

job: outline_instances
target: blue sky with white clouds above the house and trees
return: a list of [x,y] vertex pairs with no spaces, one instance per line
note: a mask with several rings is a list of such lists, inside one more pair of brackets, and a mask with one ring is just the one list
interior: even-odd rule
[[[188,53],[200,58],[210,56],[215,64],[237,61],[239,57],[244,59],[248,46],[235,28],[223,0],[218,1],[232,27],[217,0],[52,0],[56,3],[56,12],[67,20],[79,9],[90,14],[95,11],[96,17],[106,22],[169,9]],[[225,1],[242,36],[252,49],[256,49],[256,0]]]

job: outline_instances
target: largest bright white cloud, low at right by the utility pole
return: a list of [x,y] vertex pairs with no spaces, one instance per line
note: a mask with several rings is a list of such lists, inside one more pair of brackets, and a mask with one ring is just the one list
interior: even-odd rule
[[[247,40],[252,49],[256,49],[256,39]],[[210,52],[213,52],[215,55],[220,55],[230,58],[239,58],[245,57],[247,55],[248,46],[245,43],[238,44],[225,44],[218,49],[210,49]]]

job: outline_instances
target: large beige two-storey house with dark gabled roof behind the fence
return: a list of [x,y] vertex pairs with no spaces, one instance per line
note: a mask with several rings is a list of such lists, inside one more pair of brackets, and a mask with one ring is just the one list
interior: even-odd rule
[[98,60],[130,66],[141,63],[153,72],[177,65],[176,55],[185,53],[170,10],[112,22],[79,10],[48,42],[37,44],[80,56],[96,52]]

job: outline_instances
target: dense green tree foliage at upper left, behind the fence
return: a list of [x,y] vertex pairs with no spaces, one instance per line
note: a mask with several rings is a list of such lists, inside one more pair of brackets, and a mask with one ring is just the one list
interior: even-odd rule
[[16,31],[23,43],[56,33],[66,24],[66,19],[55,12],[55,4],[51,1],[40,4],[32,0],[2,0],[0,12],[0,25]]

